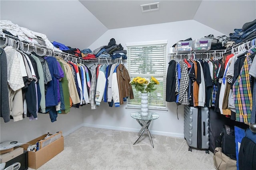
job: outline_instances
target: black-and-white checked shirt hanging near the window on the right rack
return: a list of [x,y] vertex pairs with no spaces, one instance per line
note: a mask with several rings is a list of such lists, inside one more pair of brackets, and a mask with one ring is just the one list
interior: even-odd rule
[[189,104],[188,103],[188,84],[189,84],[188,65],[184,61],[180,61],[180,69],[181,69],[181,78],[180,78],[178,104],[188,105]]

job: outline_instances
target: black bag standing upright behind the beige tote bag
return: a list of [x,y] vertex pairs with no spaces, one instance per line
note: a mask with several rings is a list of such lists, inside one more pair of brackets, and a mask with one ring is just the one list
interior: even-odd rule
[[221,148],[222,152],[231,159],[236,160],[236,143],[234,126],[224,125],[220,134],[222,138]]

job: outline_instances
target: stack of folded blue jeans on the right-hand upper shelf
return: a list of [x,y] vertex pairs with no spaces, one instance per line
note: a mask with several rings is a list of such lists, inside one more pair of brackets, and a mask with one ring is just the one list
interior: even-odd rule
[[247,22],[242,29],[234,29],[234,33],[230,33],[230,40],[235,43],[245,42],[246,40],[256,36],[256,19],[252,22]]

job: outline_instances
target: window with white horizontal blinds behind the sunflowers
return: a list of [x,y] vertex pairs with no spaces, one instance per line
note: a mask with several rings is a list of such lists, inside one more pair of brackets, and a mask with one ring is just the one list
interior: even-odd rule
[[[148,108],[166,108],[166,44],[167,41],[126,43],[127,64],[131,80],[134,77],[159,81],[156,91],[148,93]],[[128,99],[128,107],[140,106],[140,92],[134,86],[134,99]]]

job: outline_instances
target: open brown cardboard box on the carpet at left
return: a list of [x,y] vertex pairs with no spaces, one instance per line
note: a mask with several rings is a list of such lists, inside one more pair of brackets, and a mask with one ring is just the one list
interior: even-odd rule
[[[27,143],[29,144],[36,144],[37,141],[44,139],[47,134],[44,134],[34,140],[31,140]],[[22,148],[27,150],[29,144],[23,144]],[[64,150],[64,137],[61,136],[54,142],[48,144],[47,146],[39,149],[36,152],[28,151],[28,167],[33,169],[38,169],[40,166],[48,162],[48,160],[52,159],[58,153]]]

